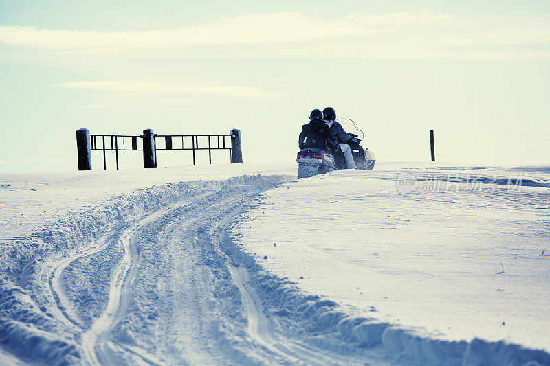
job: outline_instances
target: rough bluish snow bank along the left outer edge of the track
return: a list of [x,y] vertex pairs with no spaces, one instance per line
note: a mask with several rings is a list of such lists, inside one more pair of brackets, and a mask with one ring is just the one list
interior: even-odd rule
[[[174,203],[192,194],[216,190],[257,190],[284,181],[284,176],[237,176],[221,181],[191,181],[168,183],[114,196],[100,205],[87,207],[76,214],[67,214],[58,222],[32,235],[0,244],[0,345],[29,361],[49,364],[72,364],[81,357],[78,340],[80,328],[94,318],[106,305],[107,298],[72,296],[72,301],[85,304],[80,308],[83,324],[76,319],[56,314],[65,309],[56,301],[49,286],[52,271],[66,258],[78,255],[113,227],[124,225],[136,215]],[[126,188],[126,187],[124,187]],[[97,262],[98,275],[109,272],[109,265]],[[103,264],[105,267],[103,268]],[[74,271],[72,280],[78,283],[86,273]],[[66,290],[71,290],[70,283]]]

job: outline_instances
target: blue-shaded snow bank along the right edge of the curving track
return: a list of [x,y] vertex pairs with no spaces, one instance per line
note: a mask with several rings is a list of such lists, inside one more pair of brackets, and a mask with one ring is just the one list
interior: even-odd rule
[[550,365],[550,354],[543,350],[477,338],[470,342],[445,341],[438,334],[353,315],[357,310],[307,295],[296,282],[265,271],[253,257],[237,249],[231,238],[225,240],[225,253],[254,273],[252,283],[271,309],[268,315],[274,325],[285,334],[301,334],[300,338],[319,347],[352,354],[362,348],[382,347],[389,359],[408,365]]

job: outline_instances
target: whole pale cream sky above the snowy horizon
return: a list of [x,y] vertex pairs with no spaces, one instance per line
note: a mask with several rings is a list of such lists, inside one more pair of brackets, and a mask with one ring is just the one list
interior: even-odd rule
[[326,106],[379,161],[428,161],[433,129],[438,161],[548,165],[549,60],[547,0],[1,0],[0,172],[76,170],[82,127],[239,128],[245,162],[292,162]]

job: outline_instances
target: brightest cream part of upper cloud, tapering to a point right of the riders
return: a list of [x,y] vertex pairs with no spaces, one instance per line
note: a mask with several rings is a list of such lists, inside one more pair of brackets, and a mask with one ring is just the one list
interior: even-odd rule
[[0,42],[39,49],[96,49],[287,43],[360,36],[380,30],[346,19],[323,21],[296,12],[246,14],[180,30],[94,32],[0,26]]

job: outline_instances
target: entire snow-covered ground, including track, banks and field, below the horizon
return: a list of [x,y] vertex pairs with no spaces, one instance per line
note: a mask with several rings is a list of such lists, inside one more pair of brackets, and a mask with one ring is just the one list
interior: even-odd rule
[[550,364],[550,168],[296,171],[1,174],[0,363]]

